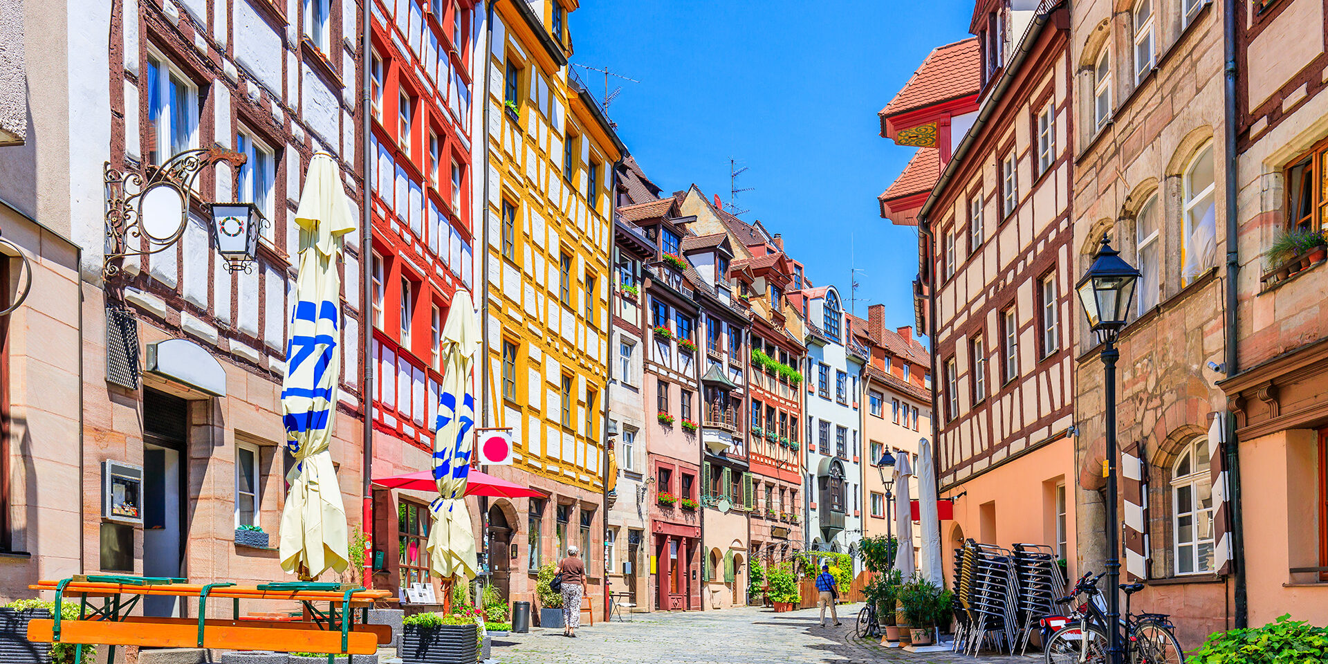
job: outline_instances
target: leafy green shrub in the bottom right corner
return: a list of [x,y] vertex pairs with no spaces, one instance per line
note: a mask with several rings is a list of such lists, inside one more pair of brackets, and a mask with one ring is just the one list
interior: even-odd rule
[[1304,664],[1328,661],[1328,628],[1291,615],[1275,623],[1208,635],[1190,664]]

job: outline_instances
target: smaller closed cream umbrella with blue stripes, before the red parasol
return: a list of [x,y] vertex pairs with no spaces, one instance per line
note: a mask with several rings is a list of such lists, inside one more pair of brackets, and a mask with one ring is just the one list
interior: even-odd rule
[[470,293],[452,297],[448,323],[442,327],[442,389],[438,393],[438,433],[433,441],[433,478],[438,498],[429,505],[433,529],[429,531],[429,567],[444,582],[475,576],[475,535],[466,510],[466,478],[474,441],[475,396],[470,368],[479,347],[479,323]]

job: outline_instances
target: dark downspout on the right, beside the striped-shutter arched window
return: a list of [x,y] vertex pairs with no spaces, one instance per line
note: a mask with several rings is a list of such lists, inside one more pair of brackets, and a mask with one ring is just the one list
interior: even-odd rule
[[[1239,242],[1236,236],[1236,3],[1234,0],[1224,0],[1222,3],[1222,45],[1223,45],[1223,60],[1226,66],[1223,68],[1223,76],[1226,78],[1226,94],[1223,94],[1223,139],[1226,141],[1226,163],[1224,163],[1224,178],[1226,178],[1226,216],[1227,216],[1227,303],[1226,303],[1226,325],[1227,325],[1227,349],[1226,349],[1226,374],[1227,377],[1235,376],[1238,371],[1236,361],[1239,355],[1236,353],[1236,340],[1240,332],[1238,324],[1238,307],[1240,304],[1239,296],[1236,293],[1236,276],[1240,272],[1240,255],[1239,255]],[[1246,574],[1244,574],[1244,527],[1240,519],[1240,441],[1236,438],[1235,426],[1230,424],[1224,425],[1224,433],[1227,433],[1227,485],[1231,491],[1231,548],[1232,548],[1232,563],[1235,564],[1236,574],[1236,615],[1235,623],[1236,628],[1242,629],[1247,625],[1248,604],[1246,595]]]

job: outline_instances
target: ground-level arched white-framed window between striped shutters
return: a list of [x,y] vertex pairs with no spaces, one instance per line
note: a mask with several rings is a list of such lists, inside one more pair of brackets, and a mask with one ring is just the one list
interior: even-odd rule
[[1212,477],[1208,438],[1185,445],[1171,466],[1171,533],[1175,574],[1212,571]]

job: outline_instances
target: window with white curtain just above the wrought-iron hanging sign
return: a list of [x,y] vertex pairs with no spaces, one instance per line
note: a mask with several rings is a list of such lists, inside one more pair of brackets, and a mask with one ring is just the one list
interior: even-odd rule
[[162,165],[198,146],[198,88],[165,58],[147,56],[147,161]]

